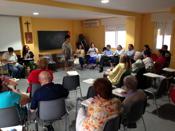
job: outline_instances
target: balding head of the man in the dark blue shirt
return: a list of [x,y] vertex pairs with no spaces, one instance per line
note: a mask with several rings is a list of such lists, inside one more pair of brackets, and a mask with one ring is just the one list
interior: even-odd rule
[[47,71],[42,71],[39,74],[39,82],[42,86],[45,85],[45,84],[51,83],[52,82],[51,74]]

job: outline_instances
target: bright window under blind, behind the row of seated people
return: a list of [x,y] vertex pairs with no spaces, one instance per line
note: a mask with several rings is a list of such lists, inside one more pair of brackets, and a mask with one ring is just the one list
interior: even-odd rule
[[105,46],[111,45],[112,48],[116,48],[117,45],[125,47],[126,44],[126,31],[106,31],[105,32]]

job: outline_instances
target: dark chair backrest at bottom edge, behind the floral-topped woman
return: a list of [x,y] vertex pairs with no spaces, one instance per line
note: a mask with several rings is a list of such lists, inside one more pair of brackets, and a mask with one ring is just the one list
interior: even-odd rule
[[118,131],[120,129],[120,116],[113,116],[104,125],[103,131]]

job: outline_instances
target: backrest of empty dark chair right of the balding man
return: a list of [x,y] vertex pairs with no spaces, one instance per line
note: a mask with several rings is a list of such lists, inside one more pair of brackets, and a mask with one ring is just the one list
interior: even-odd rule
[[69,91],[76,90],[80,86],[79,75],[68,75],[63,78],[63,87]]

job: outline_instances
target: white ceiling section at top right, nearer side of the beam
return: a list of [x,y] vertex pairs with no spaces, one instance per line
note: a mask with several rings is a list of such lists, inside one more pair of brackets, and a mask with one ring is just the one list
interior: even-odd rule
[[166,11],[175,6],[175,0],[110,0],[108,4],[101,4],[101,0],[54,0],[76,3],[95,7],[103,7],[138,13]]

